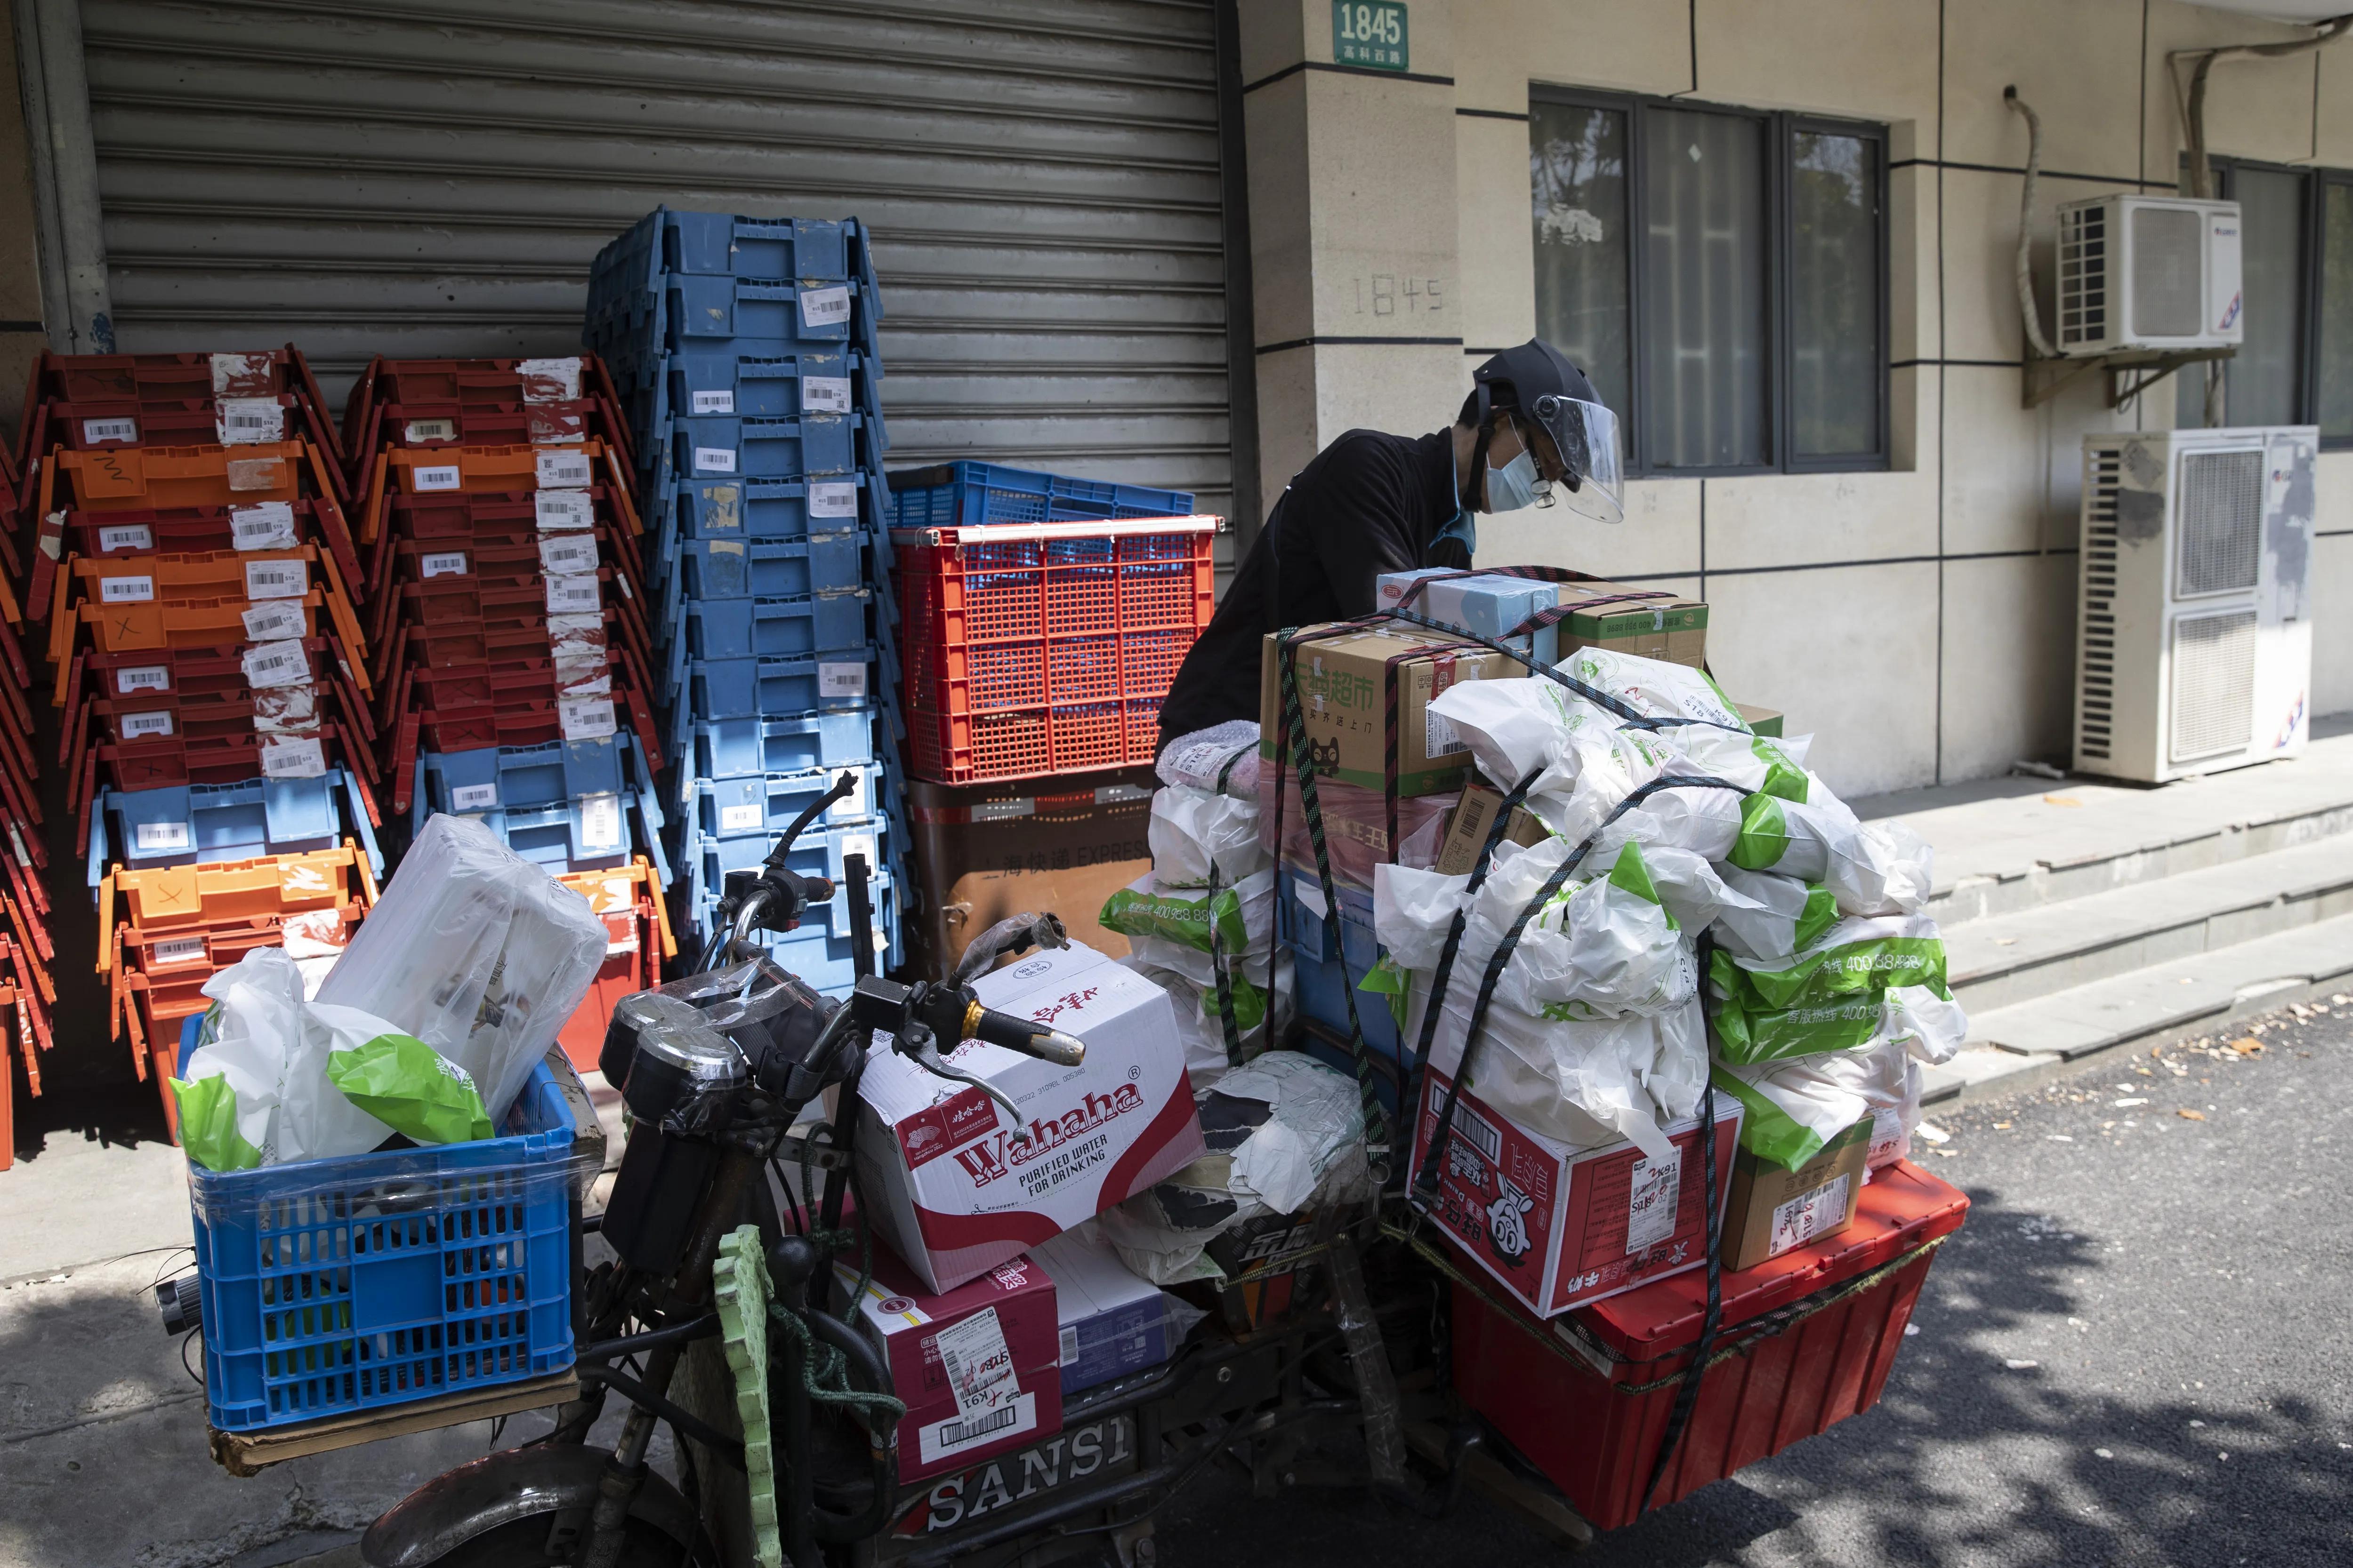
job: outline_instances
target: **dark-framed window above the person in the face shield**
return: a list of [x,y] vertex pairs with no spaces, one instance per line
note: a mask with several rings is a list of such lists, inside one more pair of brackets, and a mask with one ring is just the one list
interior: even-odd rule
[[1628,473],[1887,468],[1885,127],[1539,87],[1527,132],[1537,334]]

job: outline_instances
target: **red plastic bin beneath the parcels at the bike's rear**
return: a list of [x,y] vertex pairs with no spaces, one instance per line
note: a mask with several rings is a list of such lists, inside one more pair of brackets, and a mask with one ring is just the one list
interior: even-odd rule
[[[1845,1232],[1725,1274],[1715,1347],[1737,1354],[1701,1373],[1689,1427],[1652,1505],[1687,1497],[1878,1403],[1934,1260],[1915,1248],[1958,1229],[1967,1211],[1960,1190],[1897,1161],[1873,1173]],[[1817,1302],[1906,1255],[1866,1288]],[[1819,1309],[1781,1316],[1805,1305]],[[1551,1324],[1457,1284],[1454,1387],[1579,1514],[1617,1530],[1642,1507],[1704,1309],[1701,1269]],[[1551,1345],[1539,1342],[1546,1338]]]

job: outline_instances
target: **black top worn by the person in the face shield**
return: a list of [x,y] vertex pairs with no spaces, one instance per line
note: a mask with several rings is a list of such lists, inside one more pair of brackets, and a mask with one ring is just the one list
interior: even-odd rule
[[1217,618],[1193,644],[1160,705],[1160,743],[1259,717],[1266,632],[1372,614],[1384,571],[1468,569],[1454,522],[1454,433],[1405,437],[1348,430],[1299,470],[1259,543],[1233,574]]

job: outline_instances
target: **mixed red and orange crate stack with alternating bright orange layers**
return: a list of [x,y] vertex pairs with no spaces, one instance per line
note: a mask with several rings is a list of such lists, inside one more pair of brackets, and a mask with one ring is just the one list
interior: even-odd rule
[[292,348],[42,355],[21,440],[19,503],[38,531],[24,609],[47,628],[113,1030],[146,1074],[162,1041],[134,999],[191,997],[254,943],[158,950],[139,917],[125,940],[122,877],[233,863],[247,882],[292,879],[280,898],[299,900],[311,851],[355,832],[365,851],[351,853],[374,856],[341,447]]

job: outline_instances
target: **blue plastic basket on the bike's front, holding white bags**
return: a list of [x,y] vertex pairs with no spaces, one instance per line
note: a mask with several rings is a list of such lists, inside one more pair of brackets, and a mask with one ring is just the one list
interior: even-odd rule
[[214,1427],[572,1366],[572,1112],[546,1063],[506,1128],[435,1150],[188,1168]]

